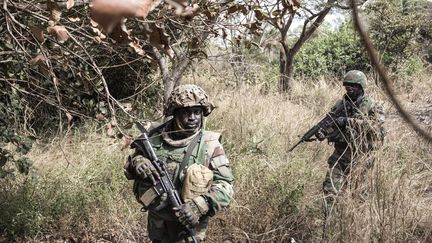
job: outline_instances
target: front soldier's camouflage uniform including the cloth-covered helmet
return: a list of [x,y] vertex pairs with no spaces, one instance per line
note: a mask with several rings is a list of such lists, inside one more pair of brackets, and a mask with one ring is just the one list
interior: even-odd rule
[[[203,115],[207,116],[211,113],[213,106],[208,102],[205,92],[195,85],[182,85],[177,87],[171,94],[168,101],[168,106],[165,107],[165,115],[171,116],[174,114],[176,108],[202,106]],[[210,181],[205,181],[209,185],[199,186],[199,180],[192,179],[189,187],[198,199],[183,200],[198,200],[196,202],[198,207],[206,207],[208,212],[203,215],[199,224],[196,226],[196,237],[203,241],[208,226],[209,217],[213,216],[216,212],[227,207],[233,197],[233,174],[231,172],[229,161],[225,155],[223,147],[220,143],[220,134],[216,132],[206,131],[202,128],[199,129],[194,135],[183,139],[182,141],[173,140],[169,136],[169,128],[174,119],[150,130],[150,141],[155,149],[156,155],[159,159],[167,164],[168,172],[171,176],[174,185],[176,186],[179,194],[184,194],[185,177],[188,168],[192,165],[203,165],[210,169],[212,177]],[[198,136],[196,145],[192,142]],[[181,164],[184,160],[185,154],[189,146],[194,146],[186,166],[180,171]],[[183,240],[180,233],[183,226],[179,223],[175,216],[172,206],[167,205],[167,198],[162,195],[155,198],[152,192],[152,184],[150,181],[141,180],[133,175],[133,157],[131,165],[126,165],[126,173],[129,178],[134,178],[134,193],[139,202],[144,205],[148,211],[148,233],[149,238],[153,242],[181,242]],[[128,175],[129,173],[129,175]],[[194,181],[195,180],[195,181]],[[202,182],[201,182],[202,183]],[[188,188],[189,188],[188,187]],[[206,210],[206,211],[207,211]]]

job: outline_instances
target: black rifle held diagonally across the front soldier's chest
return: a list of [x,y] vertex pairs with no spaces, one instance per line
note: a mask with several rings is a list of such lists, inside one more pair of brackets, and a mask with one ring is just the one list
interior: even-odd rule
[[[182,201],[171,181],[165,162],[157,158],[153,146],[149,141],[147,129],[139,122],[136,123],[136,126],[142,134],[135,139],[131,147],[136,148],[144,157],[147,157],[158,172],[159,177],[155,178],[156,181],[154,182],[154,189],[158,196],[166,193],[173,208],[179,208]],[[185,226],[184,231],[186,233],[184,237],[186,242],[199,242],[195,237],[194,229]]]

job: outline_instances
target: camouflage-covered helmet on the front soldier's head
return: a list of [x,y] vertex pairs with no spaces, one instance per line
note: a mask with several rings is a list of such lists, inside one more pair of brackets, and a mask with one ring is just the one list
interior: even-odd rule
[[164,113],[165,116],[171,116],[176,109],[194,106],[201,106],[204,116],[208,116],[214,109],[214,105],[201,87],[194,84],[180,85],[171,92]]

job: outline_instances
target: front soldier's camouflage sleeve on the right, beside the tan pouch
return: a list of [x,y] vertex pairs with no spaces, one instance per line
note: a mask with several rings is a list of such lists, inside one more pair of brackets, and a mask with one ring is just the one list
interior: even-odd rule
[[213,181],[209,191],[204,195],[210,206],[210,215],[227,207],[234,194],[234,176],[225,151],[218,139],[206,141],[207,151],[210,152],[209,168],[213,171]]

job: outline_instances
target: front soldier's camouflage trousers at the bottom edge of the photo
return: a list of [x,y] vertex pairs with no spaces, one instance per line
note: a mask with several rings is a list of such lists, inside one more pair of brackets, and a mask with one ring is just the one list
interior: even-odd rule
[[[195,237],[198,241],[204,242],[208,227],[208,217],[200,220],[195,227]],[[153,243],[185,242],[183,226],[178,221],[164,220],[149,211],[147,217],[147,230],[149,238]]]

